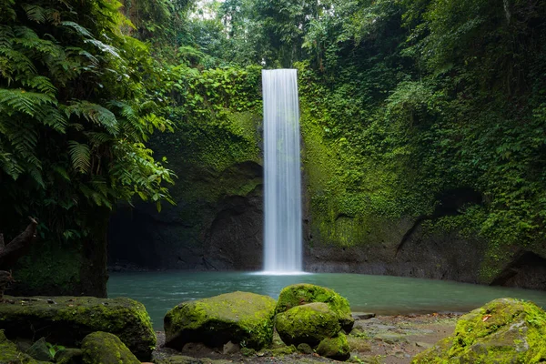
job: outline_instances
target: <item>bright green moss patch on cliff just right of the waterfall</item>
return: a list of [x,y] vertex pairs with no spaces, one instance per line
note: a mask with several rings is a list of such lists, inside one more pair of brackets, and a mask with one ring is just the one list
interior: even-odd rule
[[347,134],[333,133],[327,107],[314,109],[315,98],[301,97],[313,235],[341,247],[391,241],[394,220],[429,210],[430,196],[416,191],[415,172],[398,159],[362,156]]

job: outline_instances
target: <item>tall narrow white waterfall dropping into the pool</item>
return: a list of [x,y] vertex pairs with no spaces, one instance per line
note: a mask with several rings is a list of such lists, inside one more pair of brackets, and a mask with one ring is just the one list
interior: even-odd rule
[[262,71],[264,98],[264,270],[302,269],[298,75],[295,69]]

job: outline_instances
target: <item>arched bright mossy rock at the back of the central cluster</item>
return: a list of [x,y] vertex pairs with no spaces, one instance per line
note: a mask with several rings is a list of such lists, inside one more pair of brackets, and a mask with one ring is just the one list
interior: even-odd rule
[[308,283],[300,283],[282,288],[278,296],[275,313],[312,302],[324,302],[339,317],[341,328],[349,332],[355,320],[350,312],[347,298],[339,296],[334,290]]

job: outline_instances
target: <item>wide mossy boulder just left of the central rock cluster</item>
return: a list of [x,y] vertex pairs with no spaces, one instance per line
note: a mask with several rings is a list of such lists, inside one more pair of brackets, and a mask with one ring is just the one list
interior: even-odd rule
[[261,349],[273,338],[275,303],[248,292],[183,302],[165,316],[165,345],[182,349],[187,342],[202,342],[222,347],[231,341]]

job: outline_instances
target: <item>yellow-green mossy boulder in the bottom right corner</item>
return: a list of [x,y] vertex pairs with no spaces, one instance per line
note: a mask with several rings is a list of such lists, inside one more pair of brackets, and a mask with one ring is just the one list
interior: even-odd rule
[[546,361],[546,313],[531,302],[499,298],[462,316],[453,335],[412,363],[541,361]]

